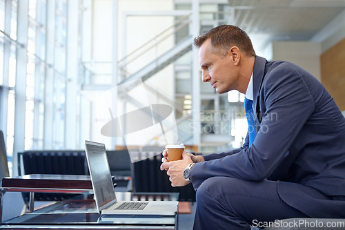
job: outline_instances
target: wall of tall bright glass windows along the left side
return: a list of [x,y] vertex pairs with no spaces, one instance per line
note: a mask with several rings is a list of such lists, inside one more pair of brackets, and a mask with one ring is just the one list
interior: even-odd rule
[[[18,151],[65,147],[69,3],[0,0],[0,129],[5,134],[10,163]],[[79,11],[83,10],[82,3],[77,1]],[[81,13],[75,14],[81,21]],[[23,21],[28,21],[21,23],[25,31],[18,29]],[[26,52],[18,52],[23,48]],[[24,74],[17,73],[21,70]],[[23,98],[21,103],[19,97]],[[24,108],[25,112],[19,113]]]

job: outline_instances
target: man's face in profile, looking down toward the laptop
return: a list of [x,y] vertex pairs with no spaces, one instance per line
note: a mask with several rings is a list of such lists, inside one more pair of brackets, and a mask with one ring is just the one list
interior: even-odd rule
[[208,39],[199,49],[202,81],[210,82],[217,93],[226,93],[236,89],[238,75],[234,68],[232,55],[229,52],[226,57],[222,58],[211,52],[210,48],[210,39]]

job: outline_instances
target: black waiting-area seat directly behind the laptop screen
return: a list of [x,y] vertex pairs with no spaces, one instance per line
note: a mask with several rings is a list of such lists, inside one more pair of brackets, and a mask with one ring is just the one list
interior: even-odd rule
[[[112,176],[117,186],[128,186],[131,177],[131,162],[127,150],[107,151]],[[23,151],[18,153],[19,175],[60,174],[90,175],[84,150]],[[73,194],[36,193],[34,200],[64,200]],[[25,200],[28,201],[28,194]]]

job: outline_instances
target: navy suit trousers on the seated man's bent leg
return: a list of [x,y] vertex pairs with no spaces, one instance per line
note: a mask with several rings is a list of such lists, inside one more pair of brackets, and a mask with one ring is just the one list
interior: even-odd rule
[[279,198],[275,181],[214,177],[195,189],[195,230],[250,229],[275,220],[308,218]]

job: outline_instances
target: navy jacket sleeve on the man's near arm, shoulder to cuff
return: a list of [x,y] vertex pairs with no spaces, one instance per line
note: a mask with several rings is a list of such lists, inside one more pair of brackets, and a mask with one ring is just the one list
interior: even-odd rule
[[314,103],[306,82],[292,67],[268,71],[259,92],[262,114],[259,132],[250,148],[193,166],[190,179],[195,189],[215,176],[264,180],[277,168],[313,113]]

